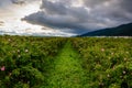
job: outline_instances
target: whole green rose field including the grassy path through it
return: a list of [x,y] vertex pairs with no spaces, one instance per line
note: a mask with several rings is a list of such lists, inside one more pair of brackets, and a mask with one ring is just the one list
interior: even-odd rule
[[132,38],[0,36],[0,88],[132,88]]

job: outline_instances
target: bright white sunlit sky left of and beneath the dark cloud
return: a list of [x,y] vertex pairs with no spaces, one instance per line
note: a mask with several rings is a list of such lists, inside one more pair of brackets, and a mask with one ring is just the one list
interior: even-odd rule
[[[11,34],[11,35],[44,35],[44,36],[70,36],[73,34],[67,34],[61,31],[55,31],[53,29],[35,25],[22,21],[21,19],[25,15],[32,14],[40,11],[41,1],[34,1],[31,3],[19,4],[11,3],[9,7],[0,9],[0,34]],[[4,23],[3,23],[4,22]],[[3,25],[4,24],[4,25]]]

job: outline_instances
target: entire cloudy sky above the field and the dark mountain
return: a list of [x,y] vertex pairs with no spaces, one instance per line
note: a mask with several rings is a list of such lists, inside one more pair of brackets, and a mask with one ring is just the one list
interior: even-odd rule
[[70,36],[132,22],[132,0],[0,0],[0,34]]

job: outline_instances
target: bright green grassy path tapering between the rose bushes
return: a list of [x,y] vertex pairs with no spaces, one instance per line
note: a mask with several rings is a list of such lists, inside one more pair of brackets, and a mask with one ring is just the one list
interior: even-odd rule
[[67,42],[54,62],[46,88],[84,88],[84,77],[78,54]]

